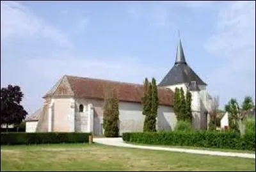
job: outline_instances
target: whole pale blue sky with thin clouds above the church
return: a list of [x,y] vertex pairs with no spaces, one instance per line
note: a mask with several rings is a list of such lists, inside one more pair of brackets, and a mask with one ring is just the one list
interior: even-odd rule
[[33,113],[63,75],[161,82],[179,40],[223,108],[255,101],[255,1],[1,1],[1,88]]

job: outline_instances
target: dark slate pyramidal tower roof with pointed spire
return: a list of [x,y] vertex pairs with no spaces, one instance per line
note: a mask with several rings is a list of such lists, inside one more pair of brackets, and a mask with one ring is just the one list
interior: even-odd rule
[[175,65],[168,72],[168,74],[165,75],[164,79],[159,83],[159,86],[170,86],[181,83],[190,83],[191,81],[196,81],[196,84],[198,85],[207,85],[187,65],[182,44],[181,41],[179,40],[176,52]]

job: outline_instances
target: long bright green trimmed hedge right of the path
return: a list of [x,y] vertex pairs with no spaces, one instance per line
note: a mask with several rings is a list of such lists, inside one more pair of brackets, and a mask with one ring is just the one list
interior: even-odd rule
[[236,132],[219,131],[125,132],[122,137],[124,141],[152,145],[255,150],[255,133],[240,136]]

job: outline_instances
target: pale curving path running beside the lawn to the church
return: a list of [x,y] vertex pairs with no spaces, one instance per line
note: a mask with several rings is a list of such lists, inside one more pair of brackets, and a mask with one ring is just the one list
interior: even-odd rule
[[192,150],[192,149],[183,149],[183,148],[167,148],[167,147],[164,148],[164,147],[159,147],[159,146],[132,145],[132,144],[124,143],[123,139],[120,137],[118,137],[118,138],[93,138],[93,142],[104,144],[104,145],[120,146],[120,147],[127,147],[127,148],[166,150],[166,151],[171,151],[171,152],[185,152],[185,153],[196,153],[196,154],[204,154],[204,155],[243,157],[243,158],[255,159],[255,154],[253,154],[253,153],[220,152],[220,151],[211,151],[211,150]]

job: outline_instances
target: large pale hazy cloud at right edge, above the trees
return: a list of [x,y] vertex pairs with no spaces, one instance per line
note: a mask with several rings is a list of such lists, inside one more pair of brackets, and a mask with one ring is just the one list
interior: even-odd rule
[[[255,2],[236,1],[220,10],[216,33],[207,40],[205,49],[227,63],[211,74],[214,93],[240,102],[250,95],[255,99]],[[217,57],[216,57],[217,58]]]

